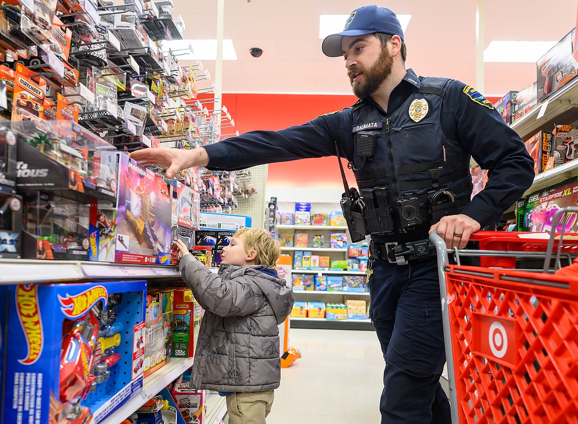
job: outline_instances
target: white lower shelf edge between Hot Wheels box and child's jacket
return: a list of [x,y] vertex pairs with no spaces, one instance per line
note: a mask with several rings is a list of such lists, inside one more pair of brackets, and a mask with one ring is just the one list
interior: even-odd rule
[[[127,403],[100,421],[99,424],[118,424],[124,419],[127,419],[147,400],[164,389],[188,368],[192,367],[192,362],[192,357],[172,358],[171,362],[144,378],[142,392],[135,394],[135,397],[128,400]],[[97,415],[99,412],[101,412],[100,409],[95,411],[94,415]]]

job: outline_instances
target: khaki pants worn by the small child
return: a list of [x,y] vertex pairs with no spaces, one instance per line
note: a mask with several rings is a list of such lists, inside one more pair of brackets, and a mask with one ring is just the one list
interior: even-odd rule
[[268,392],[238,392],[227,396],[229,424],[265,424],[271,412],[273,390]]

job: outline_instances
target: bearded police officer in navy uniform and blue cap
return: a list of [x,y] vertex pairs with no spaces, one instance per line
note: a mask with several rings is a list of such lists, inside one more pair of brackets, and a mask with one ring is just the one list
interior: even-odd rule
[[[235,170],[336,151],[346,157],[365,205],[363,228],[354,230],[371,234],[369,313],[386,361],[381,422],[450,423],[439,384],[445,353],[436,259],[424,241],[437,230],[448,247],[464,248],[532,184],[533,161],[475,89],[405,68],[403,32],[390,9],[355,9],[322,47],[345,59],[360,98],[350,108],[205,148],[131,156],[168,167],[169,178],[195,165]],[[470,156],[489,176],[471,200]]]

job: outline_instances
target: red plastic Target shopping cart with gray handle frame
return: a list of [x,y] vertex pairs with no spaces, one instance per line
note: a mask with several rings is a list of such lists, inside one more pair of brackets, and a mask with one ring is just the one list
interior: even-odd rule
[[[554,222],[576,212],[561,209]],[[452,421],[577,424],[578,274],[556,275],[549,265],[554,248],[560,264],[562,254],[574,256],[578,240],[551,234],[526,244],[514,237],[477,233],[480,247],[495,250],[476,253],[508,260],[539,254],[542,270],[449,265],[448,252],[459,262],[465,250],[448,250],[437,234],[430,237],[438,252]],[[499,250],[512,246],[522,250]]]

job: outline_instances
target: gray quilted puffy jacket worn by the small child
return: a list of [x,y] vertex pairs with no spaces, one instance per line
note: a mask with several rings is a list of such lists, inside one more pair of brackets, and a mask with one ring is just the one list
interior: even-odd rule
[[205,309],[191,384],[220,392],[265,392],[279,387],[279,329],[295,300],[285,280],[260,265],[221,264],[218,274],[187,255],[179,269]]

